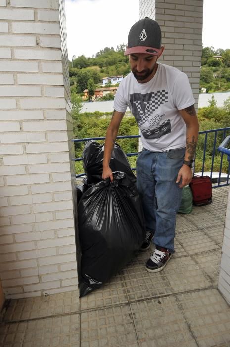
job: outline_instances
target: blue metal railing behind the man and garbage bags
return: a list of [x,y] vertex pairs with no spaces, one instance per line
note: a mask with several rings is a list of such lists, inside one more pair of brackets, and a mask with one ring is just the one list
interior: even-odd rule
[[[224,142],[223,140],[226,138],[226,133],[227,132],[230,132],[230,127],[221,128],[221,129],[214,129],[214,130],[205,130],[205,131],[200,131],[199,132],[198,141],[199,140],[203,141],[203,158],[202,158],[202,170],[201,170],[201,175],[202,176],[203,176],[203,174],[205,172],[204,169],[205,169],[205,161],[206,161],[206,157],[207,157],[207,144],[208,144],[208,141],[210,140],[210,138],[211,138],[211,141],[213,141],[212,156],[211,156],[212,157],[212,159],[211,159],[211,167],[210,167],[210,170],[209,170],[210,171],[210,173],[209,173],[210,174],[210,178],[212,179],[213,178],[213,167],[214,167],[215,155],[217,154],[218,151],[220,151],[219,148],[221,146],[223,147],[223,143],[225,143],[225,145],[226,145],[227,142]],[[214,138],[212,138],[211,135],[214,135]],[[217,142],[220,142],[220,136],[219,135],[221,135],[221,138],[222,138],[223,142],[217,148],[217,146],[218,146]],[[117,139],[133,139],[133,138],[139,138],[139,137],[140,137],[140,135],[117,136]],[[228,136],[228,138],[230,139],[230,136]],[[105,137],[89,137],[89,138],[82,138],[82,139],[74,139],[73,141],[75,143],[79,143],[79,142],[87,142],[87,141],[90,141],[90,140],[95,140],[96,141],[96,140],[104,140],[104,139],[105,139]],[[209,145],[209,148],[210,148],[210,145]],[[213,185],[213,188],[229,185],[230,163],[229,163],[229,167],[228,167],[228,173],[227,173],[226,181],[222,182],[223,184],[221,184],[223,155],[227,153],[226,151],[230,151],[230,150],[224,148],[222,151],[220,151],[221,152],[221,156],[220,156],[220,165],[219,165],[219,177],[217,178],[217,184]],[[126,153],[126,155],[127,155],[127,157],[137,156],[138,152]],[[210,155],[209,155],[209,157],[210,157]],[[74,160],[76,162],[78,162],[78,161],[82,161],[82,158],[81,157],[80,158],[75,158]],[[195,173],[195,167],[196,167],[196,156],[195,156],[194,173]],[[136,170],[136,168],[132,168],[132,170]],[[82,176],[85,176],[85,173],[77,174],[76,178],[82,177]]]

